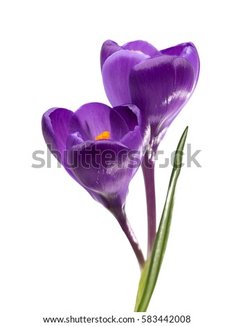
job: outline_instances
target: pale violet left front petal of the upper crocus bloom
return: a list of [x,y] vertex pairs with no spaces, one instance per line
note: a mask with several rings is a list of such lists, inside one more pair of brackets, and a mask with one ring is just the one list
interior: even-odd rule
[[132,103],[129,91],[129,73],[135,65],[148,58],[137,51],[118,51],[105,61],[102,79],[107,98],[112,106]]

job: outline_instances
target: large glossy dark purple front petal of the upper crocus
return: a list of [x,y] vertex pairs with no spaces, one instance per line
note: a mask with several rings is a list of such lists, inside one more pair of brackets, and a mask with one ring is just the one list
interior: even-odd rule
[[160,141],[195,84],[194,69],[182,57],[159,55],[136,65],[129,76],[132,103],[147,115],[152,141]]

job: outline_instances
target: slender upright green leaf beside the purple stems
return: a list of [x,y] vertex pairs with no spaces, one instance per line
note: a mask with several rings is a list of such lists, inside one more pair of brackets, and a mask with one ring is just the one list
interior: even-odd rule
[[172,220],[172,210],[174,204],[174,191],[177,185],[179,173],[181,171],[183,147],[186,142],[188,134],[188,127],[184,130],[183,135],[177,146],[177,151],[174,155],[174,164],[172,169],[172,175],[170,177],[168,194],[165,200],[163,214],[159,224],[159,231],[156,235],[154,248],[150,260],[145,263],[141,279],[138,286],[138,293],[136,296],[136,305],[134,311],[145,312],[150,303],[150,299],[154,292],[154,287],[159,276],[161,264],[165,253],[165,248],[168,243],[168,236],[170,232],[170,223]]

